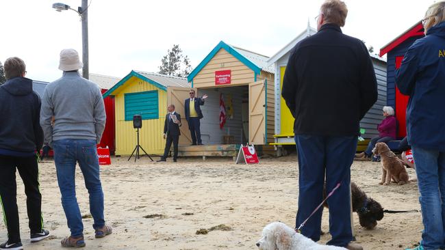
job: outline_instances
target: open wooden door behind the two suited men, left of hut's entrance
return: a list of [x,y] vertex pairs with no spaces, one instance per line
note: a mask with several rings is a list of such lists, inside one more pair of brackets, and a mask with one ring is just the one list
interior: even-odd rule
[[[190,137],[190,130],[188,130],[188,123],[186,120],[186,112],[184,109],[184,102],[187,98],[190,98],[190,87],[168,87],[167,96],[168,104],[175,105],[175,111],[181,115],[181,124],[179,127],[181,130],[181,136],[179,136],[179,145],[190,145],[192,144],[192,137]],[[196,96],[198,95],[198,90],[194,89]]]

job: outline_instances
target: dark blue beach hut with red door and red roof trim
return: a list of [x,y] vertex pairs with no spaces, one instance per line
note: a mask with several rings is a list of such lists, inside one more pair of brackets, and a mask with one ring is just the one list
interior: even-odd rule
[[[398,139],[407,135],[406,109],[409,97],[403,96],[397,89],[395,79],[396,69],[400,68],[402,59],[408,51],[409,46],[423,37],[423,25],[422,22],[418,22],[380,49],[381,57],[387,54],[387,105],[394,107],[394,111],[396,111]],[[392,147],[392,145],[390,145],[390,147]]]

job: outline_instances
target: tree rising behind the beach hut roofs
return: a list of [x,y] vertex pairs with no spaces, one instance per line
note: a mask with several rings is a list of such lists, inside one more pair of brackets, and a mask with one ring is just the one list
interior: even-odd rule
[[159,67],[160,74],[166,74],[173,77],[187,77],[192,72],[192,66],[190,66],[190,59],[188,56],[182,54],[181,48],[178,44],[173,44],[171,51],[167,51],[167,55],[164,55],[161,59],[161,66]]

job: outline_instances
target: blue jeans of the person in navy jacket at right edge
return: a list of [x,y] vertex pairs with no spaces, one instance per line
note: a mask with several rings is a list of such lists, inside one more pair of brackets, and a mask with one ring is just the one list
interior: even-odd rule
[[411,146],[422,208],[422,246],[445,248],[445,152]]

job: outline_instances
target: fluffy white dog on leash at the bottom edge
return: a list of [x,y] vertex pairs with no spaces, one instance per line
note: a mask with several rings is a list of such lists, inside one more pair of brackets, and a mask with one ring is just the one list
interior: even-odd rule
[[347,250],[344,247],[320,245],[281,222],[264,227],[263,237],[258,240],[257,247],[259,250]]

